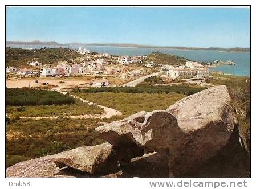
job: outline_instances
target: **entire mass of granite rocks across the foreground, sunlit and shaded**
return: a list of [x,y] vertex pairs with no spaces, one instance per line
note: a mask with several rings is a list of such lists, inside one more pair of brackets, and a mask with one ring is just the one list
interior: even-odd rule
[[[7,177],[225,177],[234,176],[234,171],[230,174],[222,167],[239,162],[239,158],[227,162],[229,153],[243,154],[235,110],[224,85],[185,97],[166,110],[138,112],[95,130],[109,143],[20,162],[6,169]],[[143,152],[154,153],[135,158]],[[239,163],[241,170],[247,166]],[[67,167],[71,174],[56,174]],[[246,171],[239,176],[245,175]]]

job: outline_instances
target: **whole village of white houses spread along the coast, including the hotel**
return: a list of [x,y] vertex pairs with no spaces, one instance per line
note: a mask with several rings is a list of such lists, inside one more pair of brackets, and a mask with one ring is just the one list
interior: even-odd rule
[[[81,47],[75,52],[82,57],[52,64],[44,64],[32,59],[27,61],[27,66],[22,69],[7,67],[6,74],[13,74],[22,79],[38,77],[38,80],[43,81],[46,81],[46,78],[50,80],[55,78],[60,79],[59,83],[62,83],[61,79],[87,76],[89,79],[84,83],[86,87],[115,87],[136,79],[145,79],[152,73],[159,74],[165,80],[201,79],[210,76],[209,69],[196,61],[186,61],[185,65],[166,65],[147,61],[147,56],[113,56],[107,52],[97,54]],[[38,83],[38,80],[36,86],[48,84],[48,82]],[[21,85],[21,87],[28,86]]]

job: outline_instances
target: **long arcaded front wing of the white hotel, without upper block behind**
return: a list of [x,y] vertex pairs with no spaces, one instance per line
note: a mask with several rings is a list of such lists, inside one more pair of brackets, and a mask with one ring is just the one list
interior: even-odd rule
[[172,79],[201,78],[210,75],[206,68],[173,68],[167,71],[167,75]]

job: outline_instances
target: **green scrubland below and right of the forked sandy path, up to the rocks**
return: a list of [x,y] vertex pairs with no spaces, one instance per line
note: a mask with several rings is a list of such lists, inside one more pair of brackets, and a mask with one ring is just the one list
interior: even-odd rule
[[75,95],[120,110],[123,115],[110,119],[86,120],[11,118],[6,125],[6,167],[26,159],[55,154],[79,146],[97,145],[104,141],[94,132],[94,128],[103,125],[103,122],[116,121],[140,110],[166,109],[184,97],[177,93],[80,92]]

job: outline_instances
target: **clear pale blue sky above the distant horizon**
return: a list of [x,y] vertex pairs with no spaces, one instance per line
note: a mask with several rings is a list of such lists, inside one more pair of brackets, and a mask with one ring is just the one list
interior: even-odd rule
[[7,7],[6,40],[250,47],[250,10]]

